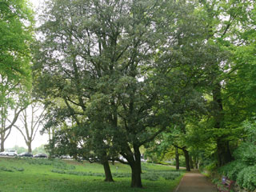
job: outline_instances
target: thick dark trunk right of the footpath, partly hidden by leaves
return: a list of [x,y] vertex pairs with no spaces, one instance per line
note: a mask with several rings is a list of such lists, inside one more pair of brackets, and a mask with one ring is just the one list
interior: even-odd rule
[[[223,106],[222,106],[222,94],[221,94],[222,86],[220,83],[217,83],[214,86],[213,90],[213,100],[214,100],[214,127],[216,129],[222,129],[223,124]],[[218,155],[218,166],[223,166],[227,162],[232,160],[232,156],[230,153],[229,142],[225,140],[225,135],[217,138],[217,155]]]

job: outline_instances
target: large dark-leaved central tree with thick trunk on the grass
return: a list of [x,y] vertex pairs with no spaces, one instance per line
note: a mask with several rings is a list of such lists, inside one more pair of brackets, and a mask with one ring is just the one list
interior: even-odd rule
[[[139,147],[203,102],[197,77],[208,73],[204,50],[214,47],[193,12],[183,1],[55,0],[42,15],[39,97],[65,103],[52,109],[86,130],[78,146],[93,139],[106,158],[114,146],[131,167],[131,186],[142,186]],[[209,62],[196,62],[196,52]]]

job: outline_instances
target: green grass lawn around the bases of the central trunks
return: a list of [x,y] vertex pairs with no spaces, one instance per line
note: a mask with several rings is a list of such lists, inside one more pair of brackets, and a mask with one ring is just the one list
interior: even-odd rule
[[[118,166],[118,169],[117,169]],[[0,192],[170,192],[179,174],[170,166],[142,163],[142,189],[130,188],[130,166],[110,165],[115,182],[104,182],[102,165],[47,159],[0,158]]]

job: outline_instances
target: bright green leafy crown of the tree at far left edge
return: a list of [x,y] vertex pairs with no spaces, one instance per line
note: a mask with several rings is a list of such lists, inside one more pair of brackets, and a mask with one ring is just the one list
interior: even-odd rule
[[30,42],[33,13],[26,0],[0,2],[1,80],[30,80]]

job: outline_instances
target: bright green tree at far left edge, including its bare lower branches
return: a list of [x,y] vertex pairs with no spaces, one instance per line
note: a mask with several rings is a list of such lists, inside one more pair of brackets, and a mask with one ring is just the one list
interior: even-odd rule
[[[30,87],[33,13],[26,1],[3,0],[0,2],[0,18],[0,134],[1,150],[4,150],[4,141],[21,112],[18,104],[21,102],[18,101],[20,86]],[[7,116],[12,109],[14,118],[8,122]]]

